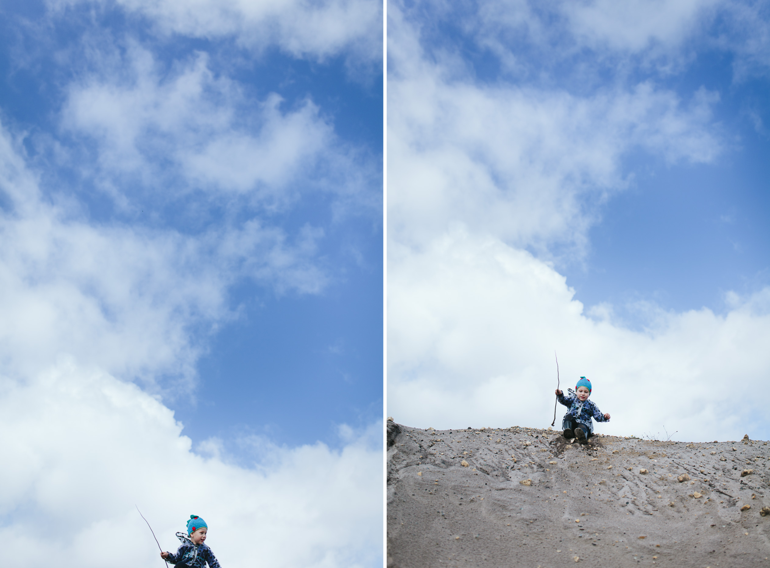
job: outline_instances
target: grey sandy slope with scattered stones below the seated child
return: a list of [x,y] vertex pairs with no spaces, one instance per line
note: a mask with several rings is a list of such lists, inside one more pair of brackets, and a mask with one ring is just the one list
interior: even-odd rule
[[766,442],[388,427],[388,566],[770,568]]

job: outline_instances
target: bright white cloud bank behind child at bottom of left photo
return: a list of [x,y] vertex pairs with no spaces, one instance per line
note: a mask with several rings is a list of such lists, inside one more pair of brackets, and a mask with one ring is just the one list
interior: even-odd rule
[[71,358],[0,381],[0,511],[13,566],[161,563],[135,504],[164,550],[176,551],[190,514],[203,516],[223,566],[380,562],[380,436],[372,444],[360,433],[339,450],[273,448],[239,467],[196,455],[169,409]]

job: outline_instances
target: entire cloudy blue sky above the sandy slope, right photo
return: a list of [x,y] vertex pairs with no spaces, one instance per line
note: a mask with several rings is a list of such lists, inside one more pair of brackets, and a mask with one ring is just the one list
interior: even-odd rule
[[608,433],[767,439],[768,5],[388,18],[388,413],[550,425],[556,349]]

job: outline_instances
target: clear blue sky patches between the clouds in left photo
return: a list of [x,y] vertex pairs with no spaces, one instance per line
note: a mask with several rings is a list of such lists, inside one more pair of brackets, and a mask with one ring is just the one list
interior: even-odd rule
[[[383,78],[377,65],[368,62],[368,68],[352,70],[344,52],[319,62],[292,57],[273,46],[255,55],[233,45],[233,38],[159,38],[148,29],[150,22],[114,6],[94,9],[84,4],[44,20],[44,25],[39,18],[49,12],[42,4],[25,5],[20,12],[6,8],[5,13],[0,108],[12,129],[27,133],[29,159],[41,169],[45,164],[42,187],[51,199],[65,195],[76,200],[82,215],[93,222],[189,235],[221,226],[228,218],[264,219],[289,238],[303,226],[324,232],[314,252],[328,282],[323,291],[276,291],[270,283],[236,279],[226,291],[226,307],[237,311],[237,318],[216,332],[204,327],[194,334],[203,358],[194,363],[191,396],[167,395],[178,419],[189,425],[186,435],[199,442],[209,436],[226,439],[245,429],[268,433],[278,443],[339,443],[337,424],[360,427],[377,419],[382,398],[383,270],[377,205]],[[93,45],[83,35],[94,37]],[[79,78],[129,72],[129,44],[152,55],[160,76],[205,54],[209,72],[242,90],[239,112],[246,116],[271,93],[280,95],[280,109],[285,110],[311,100],[336,143],[360,154],[365,178],[354,182],[360,185],[355,191],[369,192],[370,202],[335,219],[341,204],[323,192],[296,196],[290,205],[273,209],[246,199],[202,202],[189,193],[167,195],[152,181],[144,181],[139,187],[119,187],[130,202],[126,209],[99,188],[103,180],[82,172],[92,166],[100,142],[80,132],[62,132],[61,122],[68,89]],[[89,49],[114,50],[109,56],[115,61],[98,61],[107,55],[103,52],[92,55],[92,61],[86,55],[85,62],[74,65],[56,61],[62,52],[77,58]],[[52,140],[40,142],[46,136]],[[76,152],[75,161],[52,162],[53,141]],[[322,177],[323,164],[314,167]],[[312,179],[313,172],[308,173]],[[123,182],[129,180],[117,183]],[[307,183],[297,179],[288,189],[299,194]],[[184,192],[196,192],[194,184],[185,185]]]

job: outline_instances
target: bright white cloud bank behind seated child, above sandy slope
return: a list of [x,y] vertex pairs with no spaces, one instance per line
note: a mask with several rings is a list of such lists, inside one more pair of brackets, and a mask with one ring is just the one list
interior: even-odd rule
[[[419,251],[390,244],[388,416],[410,426],[550,426],[584,375],[611,422],[597,431],[768,439],[770,289],[719,316],[656,309],[634,332],[591,319],[551,266],[492,237],[453,232]],[[557,419],[564,415],[557,409]],[[560,426],[557,423],[556,426]]]

